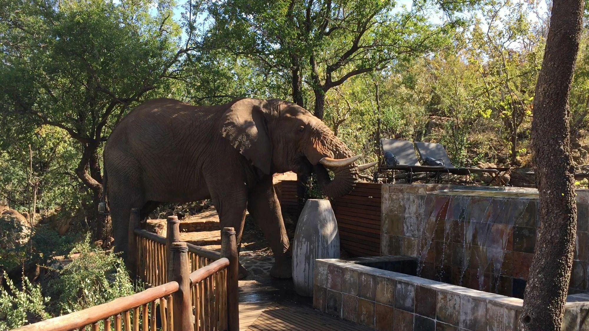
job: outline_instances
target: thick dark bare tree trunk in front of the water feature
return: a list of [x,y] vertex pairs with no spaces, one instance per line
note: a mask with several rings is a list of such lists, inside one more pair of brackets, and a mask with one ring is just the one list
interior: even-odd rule
[[532,118],[532,161],[540,193],[540,230],[519,329],[558,331],[577,230],[568,94],[579,47],[583,2],[555,0]]

